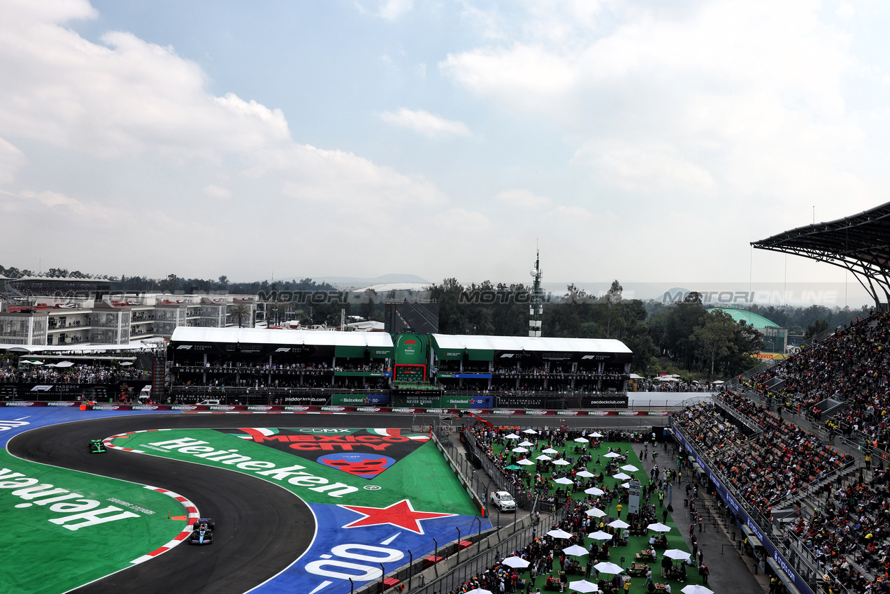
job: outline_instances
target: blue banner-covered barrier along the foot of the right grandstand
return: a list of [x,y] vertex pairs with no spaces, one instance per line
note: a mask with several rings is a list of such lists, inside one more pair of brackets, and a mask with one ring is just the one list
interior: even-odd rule
[[773,543],[773,530],[769,519],[764,518],[757,510],[750,507],[739,494],[734,493],[734,489],[730,486],[729,481],[719,471],[711,469],[708,458],[705,458],[696,447],[692,446],[692,439],[676,423],[674,417],[670,419],[670,426],[674,432],[674,437],[676,437],[680,445],[692,454],[695,461],[699,463],[702,470],[708,475],[726,507],[732,510],[732,513],[738,516],[740,522],[744,526],[748,526],[748,529],[763,543],[767,555],[773,558],[773,562],[785,574],[788,574],[789,579],[794,583],[797,590],[805,594],[815,594],[816,579],[818,575],[821,575],[817,573],[816,567],[806,563],[804,558],[797,555],[794,558],[794,563],[789,562],[789,559],[785,558],[779,548]]

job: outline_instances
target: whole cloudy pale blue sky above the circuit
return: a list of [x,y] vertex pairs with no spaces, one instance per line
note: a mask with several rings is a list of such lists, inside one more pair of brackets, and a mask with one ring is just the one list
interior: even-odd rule
[[0,264],[848,281],[751,241],[881,205],[890,4],[0,0]]

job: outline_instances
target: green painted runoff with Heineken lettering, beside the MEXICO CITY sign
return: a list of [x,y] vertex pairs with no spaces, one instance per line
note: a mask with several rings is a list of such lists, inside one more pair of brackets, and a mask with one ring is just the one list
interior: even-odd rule
[[[348,435],[362,429],[340,430]],[[368,479],[236,437],[237,433],[238,429],[231,429],[231,434],[215,429],[165,429],[116,437],[112,443],[145,454],[243,472],[277,483],[309,503],[385,507],[410,497],[417,510],[480,515],[480,510],[473,506],[432,440],[422,441],[413,452],[375,478]],[[212,448],[223,455],[214,455],[201,448]],[[224,458],[226,452],[234,455]],[[199,457],[202,454],[210,455]]]

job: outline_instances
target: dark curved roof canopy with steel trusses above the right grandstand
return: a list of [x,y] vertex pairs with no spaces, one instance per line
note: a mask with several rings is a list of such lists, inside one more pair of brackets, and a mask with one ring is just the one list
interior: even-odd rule
[[890,203],[837,221],[791,229],[751,245],[848,269],[876,303],[881,301],[878,289],[890,301]]

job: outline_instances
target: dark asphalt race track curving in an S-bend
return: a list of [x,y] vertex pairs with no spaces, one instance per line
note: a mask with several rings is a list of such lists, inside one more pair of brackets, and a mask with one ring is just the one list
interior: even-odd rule
[[[239,472],[155,456],[109,450],[90,454],[87,443],[142,429],[240,427],[410,428],[433,416],[410,414],[139,414],[87,419],[31,429],[12,437],[7,449],[23,460],[163,487],[190,499],[213,518],[214,543],[187,543],[138,566],[77,590],[77,594],[243,594],[279,574],[312,543],[315,521],[305,503],[275,484]],[[495,424],[551,425],[555,419],[497,419]],[[555,421],[555,422],[554,422]],[[570,419],[573,426],[633,425],[628,419]],[[592,422],[591,422],[592,421]],[[659,419],[659,421],[662,421]],[[656,421],[657,424],[658,421]],[[662,421],[663,422],[663,421]],[[588,424],[589,423],[589,424]],[[636,423],[634,423],[636,424]],[[631,427],[627,427],[631,425]],[[493,520],[495,518],[492,518]],[[147,551],[134,549],[134,558]],[[101,551],[98,553],[101,554]]]

